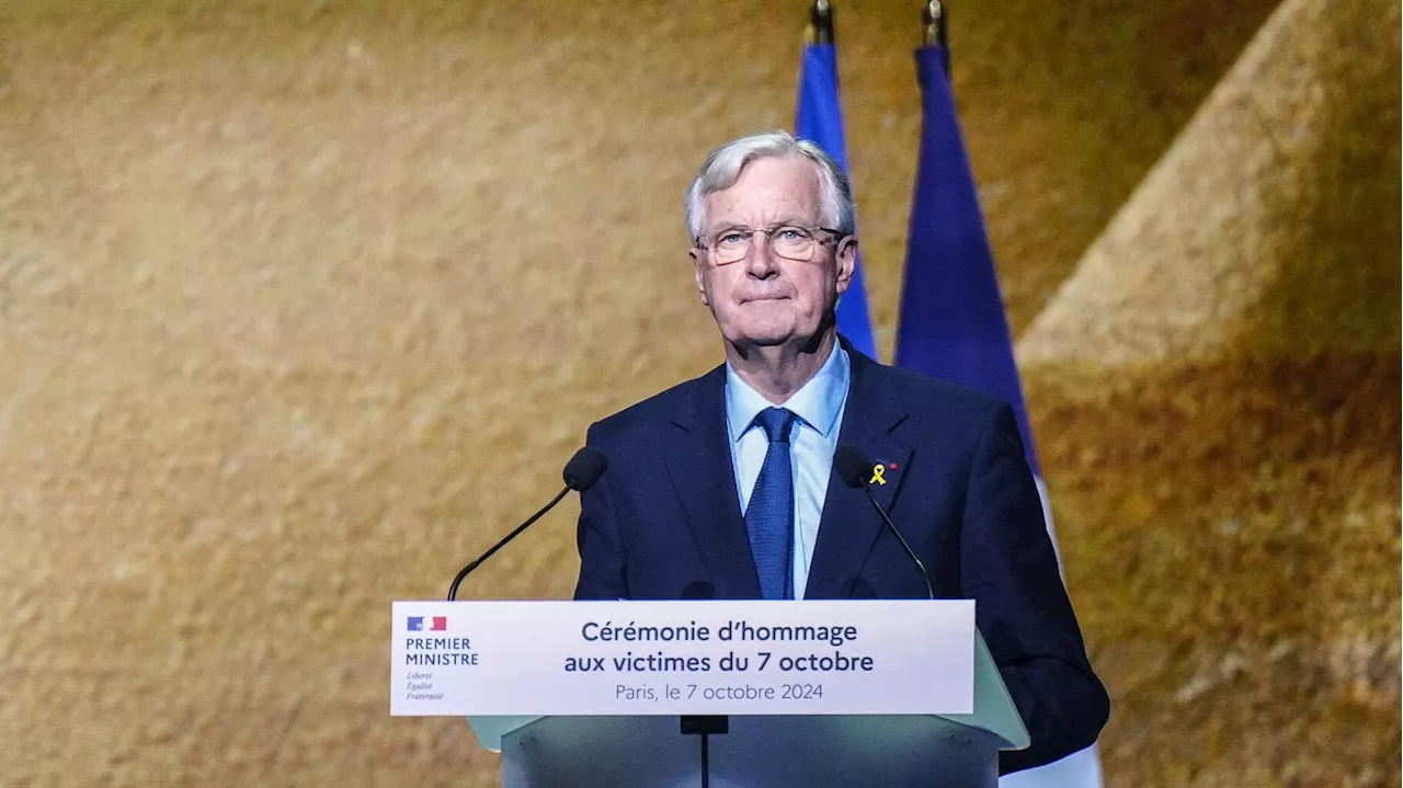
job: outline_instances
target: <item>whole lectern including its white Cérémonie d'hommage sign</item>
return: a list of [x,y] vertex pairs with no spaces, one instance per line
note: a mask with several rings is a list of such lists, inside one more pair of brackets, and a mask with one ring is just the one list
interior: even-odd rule
[[[428,614],[408,617],[408,609],[398,610],[398,606],[411,604],[427,610]],[[501,673],[495,680],[484,674],[484,684],[477,687],[476,700],[463,701],[466,707],[487,707],[495,711],[515,708],[513,704],[519,702],[522,709],[550,707],[560,708],[564,714],[469,712],[466,715],[477,742],[487,750],[501,753],[504,788],[679,788],[703,785],[703,775],[706,782],[716,788],[847,785],[992,788],[998,785],[999,778],[999,750],[1028,746],[1027,729],[1003,686],[984,638],[974,628],[974,609],[968,602],[396,603],[396,618],[417,623],[438,621],[446,630],[449,617],[434,618],[434,611],[457,613],[463,606],[481,606],[480,611],[485,617],[474,621],[476,631],[487,632],[498,641],[535,639],[537,646],[532,653],[549,652],[540,662],[542,666],[549,666],[551,656],[582,653],[578,642],[563,642],[553,651],[549,642],[550,632],[578,628],[586,635],[591,632],[598,635],[602,631],[596,620],[603,620],[605,616],[579,609],[585,604],[593,604],[599,613],[610,614],[610,620],[623,620],[638,627],[650,621],[683,620],[678,618],[678,610],[683,609],[676,606],[693,606],[685,609],[685,621],[690,623],[693,631],[699,627],[697,621],[703,623],[700,625],[710,621],[734,624],[738,616],[748,617],[745,621],[777,621],[784,632],[803,631],[804,623],[796,618],[797,616],[803,618],[803,614],[839,624],[857,621],[860,624],[853,624],[847,630],[832,627],[831,632],[852,632],[856,637],[845,645],[860,644],[870,649],[867,653],[871,656],[873,679],[877,683],[859,686],[856,681],[860,677],[815,677],[819,674],[790,672],[777,679],[781,681],[780,686],[786,687],[786,693],[790,691],[788,687],[800,686],[790,681],[811,681],[812,684],[803,684],[808,687],[822,683],[831,695],[826,705],[808,701],[784,705],[781,701],[717,700],[697,704],[693,709],[686,705],[686,698],[679,698],[676,704],[682,705],[676,708],[683,712],[696,711],[697,715],[657,712],[650,708],[652,704],[644,704],[638,714],[605,714],[619,709],[619,705],[612,705],[602,697],[589,700],[586,697],[589,690],[584,688],[584,683],[578,684],[581,687],[578,691],[572,690],[577,684],[568,683],[537,691],[537,686],[550,681],[553,673],[547,667],[536,667],[529,658],[511,655],[511,659],[495,660],[502,666]],[[502,610],[501,623],[495,623],[494,616],[498,611],[494,607],[499,606],[516,607]],[[547,609],[539,606],[565,607],[550,609],[547,614]],[[654,610],[662,613],[651,616]],[[714,611],[716,616],[709,618],[699,611]],[[913,613],[920,613],[923,618],[918,621],[919,617],[913,617]],[[561,624],[557,623],[557,616],[572,618]],[[523,627],[523,623],[533,617],[536,618],[533,623],[539,627],[535,632],[530,631],[532,627]],[[579,624],[582,621],[585,624]],[[508,623],[516,634],[502,634],[512,631]],[[589,630],[591,625],[595,628]],[[755,631],[759,631],[759,627]],[[412,637],[415,632],[407,635]],[[540,645],[543,641],[544,645]],[[620,645],[616,651],[622,648]],[[687,648],[693,649],[692,653],[707,653],[699,651],[702,644],[687,644]],[[728,644],[710,648],[730,648],[730,653],[734,655],[741,646]],[[767,655],[777,652],[777,646],[770,644],[763,648],[770,649],[763,652]],[[786,644],[786,648],[793,651],[797,646]],[[634,649],[643,651],[630,644],[627,653],[634,655]],[[484,655],[483,660],[487,660],[492,649],[484,644],[484,649],[474,653]],[[800,662],[791,659],[788,665],[794,669]],[[766,658],[766,663],[770,670],[777,665],[772,658]],[[810,665],[821,663],[811,660]],[[877,673],[881,667],[888,667],[894,679],[887,680]],[[463,673],[470,674],[470,670]],[[419,674],[408,673],[410,677]],[[746,686],[763,688],[767,687],[766,674],[763,670],[756,672],[755,665],[751,665],[751,672],[744,679],[731,674],[728,681],[745,681]],[[930,676],[932,683],[939,681],[953,691],[947,695],[941,690],[937,693],[940,698],[964,697],[964,708],[969,708],[968,700],[972,698],[972,709],[957,714],[909,712],[909,704],[904,704],[902,700],[908,694],[919,695],[927,690],[923,686],[925,676]],[[714,683],[713,676],[682,680]],[[515,690],[502,687],[504,683],[512,681],[521,684]],[[598,683],[615,690],[615,686],[610,686],[615,681],[623,680],[617,676],[603,676]],[[856,693],[847,691],[852,687],[846,687],[845,681],[854,683]],[[626,683],[616,684],[617,690],[626,686]],[[693,687],[693,694],[697,694],[694,684],[685,686]],[[668,687],[659,687],[658,691],[664,694],[673,691],[666,697],[680,694]],[[873,691],[873,687],[877,691]],[[499,695],[494,695],[497,690],[501,690]],[[884,690],[890,691],[884,694]],[[563,697],[571,691],[578,697]],[[455,688],[448,687],[445,694],[455,694]],[[474,695],[474,691],[460,694],[469,697]],[[613,694],[617,697],[619,693]],[[854,694],[859,697],[853,697]],[[582,704],[579,697],[585,697]],[[662,700],[666,701],[666,697]],[[394,714],[432,714],[422,709],[394,709],[394,700],[391,694]],[[960,705],[958,701],[950,700],[920,702],[936,707]],[[657,705],[665,707],[665,704]],[[811,708],[804,708],[805,705]],[[845,712],[863,707],[895,709],[895,712]],[[797,714],[784,712],[791,708]],[[581,714],[581,709],[602,712]],[[685,731],[718,728],[724,732]]]

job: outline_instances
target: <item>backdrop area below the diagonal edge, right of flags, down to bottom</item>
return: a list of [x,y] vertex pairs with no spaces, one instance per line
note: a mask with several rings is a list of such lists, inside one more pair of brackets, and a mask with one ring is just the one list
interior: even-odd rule
[[1019,344],[1120,784],[1403,784],[1400,70],[1284,1]]

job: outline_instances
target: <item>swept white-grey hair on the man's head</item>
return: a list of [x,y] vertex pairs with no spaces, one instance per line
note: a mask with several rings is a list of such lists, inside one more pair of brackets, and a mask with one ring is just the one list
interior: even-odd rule
[[801,156],[818,168],[819,202],[824,222],[843,236],[857,233],[857,206],[847,174],[817,143],[796,139],[788,132],[759,132],[731,140],[711,151],[706,164],[687,189],[686,220],[692,243],[704,234],[706,198],[730,189],[741,178],[741,170],[756,158]]

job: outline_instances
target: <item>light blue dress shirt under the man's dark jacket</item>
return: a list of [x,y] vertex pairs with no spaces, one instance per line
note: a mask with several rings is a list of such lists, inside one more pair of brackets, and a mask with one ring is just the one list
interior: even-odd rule
[[[790,432],[790,466],[794,468],[794,597],[804,599],[808,568],[818,541],[818,523],[828,496],[828,477],[838,449],[838,428],[843,423],[852,366],[847,352],[836,344],[818,373],[779,407],[798,416]],[[776,407],[751,388],[725,365],[725,423],[731,435],[731,466],[741,494],[741,512],[751,503],[755,480],[760,475],[769,442],[753,423],[765,408]]]

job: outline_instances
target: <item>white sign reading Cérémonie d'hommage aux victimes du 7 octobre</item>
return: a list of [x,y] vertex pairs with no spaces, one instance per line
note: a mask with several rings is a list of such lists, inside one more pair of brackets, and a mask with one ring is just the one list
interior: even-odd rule
[[971,600],[396,602],[390,714],[971,714]]

